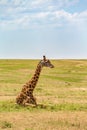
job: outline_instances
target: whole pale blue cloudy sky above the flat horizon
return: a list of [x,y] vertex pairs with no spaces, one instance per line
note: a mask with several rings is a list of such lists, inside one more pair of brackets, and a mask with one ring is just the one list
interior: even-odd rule
[[0,59],[87,59],[87,0],[0,0]]

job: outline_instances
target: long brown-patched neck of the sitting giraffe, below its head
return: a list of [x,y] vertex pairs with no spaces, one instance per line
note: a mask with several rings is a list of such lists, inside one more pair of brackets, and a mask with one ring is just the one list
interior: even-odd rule
[[30,83],[32,84],[33,89],[35,88],[35,86],[36,86],[36,84],[38,82],[41,70],[42,70],[42,65],[39,63],[37,65],[37,68],[36,68],[36,71],[35,71],[33,77],[30,80]]

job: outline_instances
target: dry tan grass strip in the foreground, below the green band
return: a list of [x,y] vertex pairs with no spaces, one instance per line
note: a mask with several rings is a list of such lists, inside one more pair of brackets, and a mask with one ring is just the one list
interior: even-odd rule
[[8,130],[87,130],[86,112],[1,113],[0,130],[5,121]]

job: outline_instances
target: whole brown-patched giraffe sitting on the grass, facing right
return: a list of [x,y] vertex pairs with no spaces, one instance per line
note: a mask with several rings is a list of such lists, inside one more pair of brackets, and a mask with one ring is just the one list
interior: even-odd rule
[[33,91],[36,87],[38,82],[41,70],[43,67],[50,67],[54,68],[54,65],[51,64],[50,60],[46,59],[43,56],[43,59],[38,63],[35,73],[30,81],[28,81],[20,92],[20,94],[16,98],[16,103],[19,105],[27,106],[27,105],[34,105],[37,106],[36,98],[33,96]]

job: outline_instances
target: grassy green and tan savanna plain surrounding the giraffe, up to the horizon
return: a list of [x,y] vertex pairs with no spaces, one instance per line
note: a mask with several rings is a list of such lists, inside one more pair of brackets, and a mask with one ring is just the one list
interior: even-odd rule
[[0,60],[0,130],[87,130],[87,60],[51,60],[34,91],[38,106],[16,96],[39,60]]

